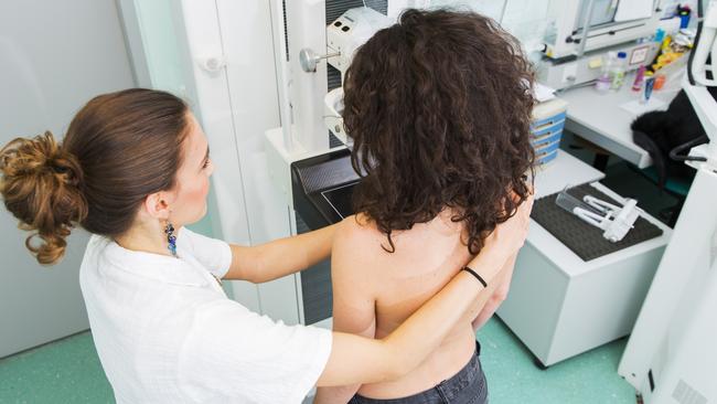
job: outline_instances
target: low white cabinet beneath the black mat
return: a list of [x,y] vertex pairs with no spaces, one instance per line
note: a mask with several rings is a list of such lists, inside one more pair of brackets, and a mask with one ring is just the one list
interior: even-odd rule
[[663,234],[589,262],[531,223],[497,315],[543,365],[630,333],[672,233],[654,217],[643,217]]

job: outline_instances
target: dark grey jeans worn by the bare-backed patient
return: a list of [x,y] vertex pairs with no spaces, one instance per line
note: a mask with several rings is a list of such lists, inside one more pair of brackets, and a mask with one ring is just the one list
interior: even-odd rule
[[475,353],[463,369],[452,378],[425,392],[402,398],[376,400],[354,395],[349,404],[484,404],[488,403],[488,384],[478,358],[481,345],[475,341]]

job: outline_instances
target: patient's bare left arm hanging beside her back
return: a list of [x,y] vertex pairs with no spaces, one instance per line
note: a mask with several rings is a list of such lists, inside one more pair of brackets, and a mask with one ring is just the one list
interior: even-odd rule
[[[353,222],[353,223],[352,223]],[[354,217],[345,220],[336,231],[331,252],[333,287],[333,330],[374,338],[376,330],[374,285],[371,254],[355,237]],[[346,363],[346,366],[351,366]],[[347,403],[361,384],[317,389],[315,404]]]

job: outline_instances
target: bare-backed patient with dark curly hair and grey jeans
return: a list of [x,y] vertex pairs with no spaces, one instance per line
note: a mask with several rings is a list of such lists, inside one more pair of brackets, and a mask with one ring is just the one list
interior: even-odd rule
[[[334,330],[388,336],[532,198],[533,82],[517,40],[470,12],[407,10],[356,52],[343,117],[364,174],[332,249]],[[486,402],[475,331],[505,299],[514,261],[413,372],[319,389],[315,403]]]

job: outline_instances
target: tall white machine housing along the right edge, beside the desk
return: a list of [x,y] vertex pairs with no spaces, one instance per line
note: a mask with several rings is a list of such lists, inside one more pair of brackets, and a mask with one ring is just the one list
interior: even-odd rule
[[683,88],[709,138],[687,164],[697,170],[618,373],[645,403],[717,401],[717,102],[705,85],[717,57],[717,2],[710,1]]

